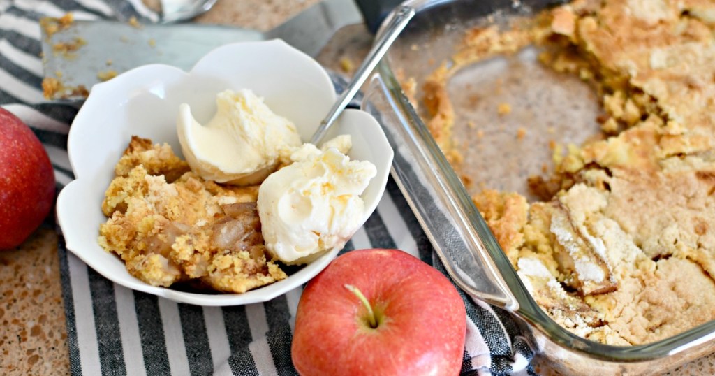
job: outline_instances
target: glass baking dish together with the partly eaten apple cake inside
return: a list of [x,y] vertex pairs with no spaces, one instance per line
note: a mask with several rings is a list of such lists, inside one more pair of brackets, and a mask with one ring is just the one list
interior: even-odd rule
[[455,281],[566,373],[714,351],[714,5],[413,5],[368,98]]

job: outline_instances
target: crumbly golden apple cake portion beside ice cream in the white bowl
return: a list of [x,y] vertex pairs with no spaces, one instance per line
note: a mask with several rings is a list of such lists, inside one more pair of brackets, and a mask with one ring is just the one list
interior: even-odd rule
[[285,279],[266,258],[257,187],[225,187],[187,171],[168,145],[133,137],[102,203],[110,218],[99,244],[154,286],[200,281],[242,293]]

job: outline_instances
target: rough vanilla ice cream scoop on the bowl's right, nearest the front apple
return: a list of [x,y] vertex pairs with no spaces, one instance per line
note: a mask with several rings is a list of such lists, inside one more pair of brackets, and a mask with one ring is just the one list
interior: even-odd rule
[[344,246],[363,224],[360,195],[377,170],[369,161],[350,160],[337,148],[322,151],[312,144],[291,158],[294,163],[261,184],[258,213],[270,254],[285,264],[305,264],[323,251]]

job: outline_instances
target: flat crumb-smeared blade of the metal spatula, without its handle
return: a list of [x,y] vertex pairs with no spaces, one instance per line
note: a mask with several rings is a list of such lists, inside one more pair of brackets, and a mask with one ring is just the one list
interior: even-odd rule
[[43,87],[50,99],[84,99],[92,85],[134,67],[169,64],[189,70],[223,44],[262,39],[260,32],[228,26],[74,21],[51,35],[43,29]]

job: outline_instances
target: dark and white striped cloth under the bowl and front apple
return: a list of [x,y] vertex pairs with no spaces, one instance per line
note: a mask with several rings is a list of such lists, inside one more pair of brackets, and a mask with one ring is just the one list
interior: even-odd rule
[[[157,19],[141,0],[0,0],[0,105],[39,137],[57,189],[74,177],[66,153],[77,109],[44,102],[39,58],[41,16]],[[393,181],[365,226],[342,252],[371,247],[410,252],[443,273],[428,238]],[[113,284],[67,252],[61,282],[73,375],[295,375],[290,343],[302,289],[263,304],[199,307]],[[465,375],[533,375],[533,339],[508,313],[463,295],[468,309]]]

